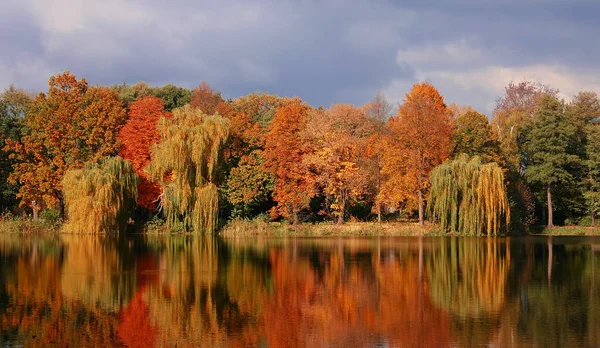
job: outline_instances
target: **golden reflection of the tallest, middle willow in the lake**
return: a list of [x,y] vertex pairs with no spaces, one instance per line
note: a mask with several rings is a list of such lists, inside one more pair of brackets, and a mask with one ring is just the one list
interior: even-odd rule
[[217,253],[210,237],[148,236],[160,247],[160,285],[147,294],[159,342],[172,346],[216,346],[226,337],[219,326],[214,290]]

